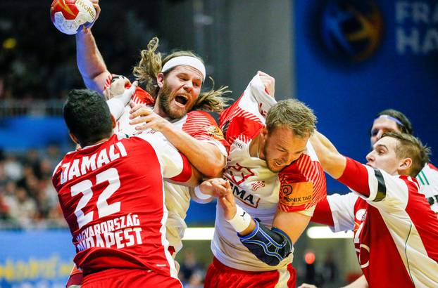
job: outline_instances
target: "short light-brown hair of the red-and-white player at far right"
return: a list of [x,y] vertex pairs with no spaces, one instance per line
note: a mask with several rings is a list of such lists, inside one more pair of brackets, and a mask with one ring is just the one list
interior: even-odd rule
[[399,159],[411,158],[412,165],[408,170],[408,176],[416,177],[421,169],[429,162],[430,148],[423,145],[420,139],[408,133],[387,132],[383,137],[392,137],[397,140],[396,157]]

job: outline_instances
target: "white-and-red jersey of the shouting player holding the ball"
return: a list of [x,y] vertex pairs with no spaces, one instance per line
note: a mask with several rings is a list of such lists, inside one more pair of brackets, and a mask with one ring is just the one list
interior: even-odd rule
[[[111,84],[111,77],[113,77],[113,75],[106,81],[106,87]],[[137,87],[134,96],[132,96],[132,100],[137,104],[148,105],[151,108],[154,106],[154,98],[139,87]],[[127,105],[122,117],[117,119],[115,131],[128,135],[138,132],[135,130],[135,126],[130,125],[129,114],[130,105]],[[191,111],[184,117],[172,121],[172,123],[197,140],[206,141],[207,143],[215,145],[223,156],[227,157],[225,147],[227,147],[228,144],[223,138],[222,131],[218,128],[215,120],[207,112]],[[168,182],[165,182],[164,186],[166,192],[165,205],[169,211],[167,223],[168,240],[170,246],[177,252],[182,248],[182,237],[187,228],[184,218],[187,215],[187,209],[189,209],[189,188]]]

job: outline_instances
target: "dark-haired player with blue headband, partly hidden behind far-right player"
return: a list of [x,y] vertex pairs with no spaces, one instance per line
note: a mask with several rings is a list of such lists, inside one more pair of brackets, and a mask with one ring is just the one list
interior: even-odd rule
[[[412,124],[408,117],[394,109],[377,113],[370,129],[370,142],[373,146],[385,132],[400,132],[413,135]],[[416,177],[422,192],[438,217],[438,169],[432,163],[426,163]]]

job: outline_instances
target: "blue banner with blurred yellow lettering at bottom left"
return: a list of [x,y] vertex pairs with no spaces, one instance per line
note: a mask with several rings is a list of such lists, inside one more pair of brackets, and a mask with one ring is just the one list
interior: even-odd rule
[[0,287],[65,287],[75,248],[68,230],[0,231]]

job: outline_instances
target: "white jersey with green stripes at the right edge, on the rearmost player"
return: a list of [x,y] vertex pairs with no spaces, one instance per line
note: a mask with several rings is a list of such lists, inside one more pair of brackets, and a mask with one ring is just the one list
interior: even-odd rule
[[417,175],[422,192],[432,211],[438,214],[438,169],[432,163],[427,163]]

